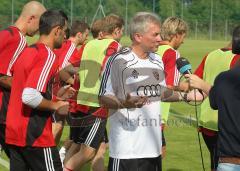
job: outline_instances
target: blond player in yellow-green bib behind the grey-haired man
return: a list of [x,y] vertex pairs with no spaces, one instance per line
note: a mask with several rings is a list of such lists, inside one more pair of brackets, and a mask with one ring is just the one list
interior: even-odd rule
[[[160,46],[156,53],[162,56],[166,76],[166,84],[169,88],[178,86],[180,73],[176,68],[176,60],[180,57],[180,54],[177,49],[183,43],[186,34],[187,24],[185,21],[178,17],[169,17],[162,24],[162,41],[160,42]],[[164,126],[169,115],[170,103],[161,102],[161,110],[163,122],[162,130],[164,130]],[[166,150],[165,148],[166,144],[163,143],[163,157]]]

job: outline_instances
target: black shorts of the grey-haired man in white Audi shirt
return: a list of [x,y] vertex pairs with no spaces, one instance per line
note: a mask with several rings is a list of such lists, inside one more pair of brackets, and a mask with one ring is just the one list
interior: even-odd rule
[[109,158],[108,171],[162,171],[161,156],[156,158]]

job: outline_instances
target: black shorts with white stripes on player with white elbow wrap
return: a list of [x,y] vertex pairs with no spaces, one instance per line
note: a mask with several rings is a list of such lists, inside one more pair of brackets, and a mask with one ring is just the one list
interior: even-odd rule
[[10,171],[62,171],[62,163],[56,147],[9,146]]

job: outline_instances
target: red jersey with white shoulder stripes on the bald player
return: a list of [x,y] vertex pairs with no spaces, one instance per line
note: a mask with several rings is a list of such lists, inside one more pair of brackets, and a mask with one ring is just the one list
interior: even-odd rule
[[[26,39],[17,27],[0,31],[0,76],[12,76],[11,68],[27,46]],[[5,123],[10,91],[0,87],[0,123]]]

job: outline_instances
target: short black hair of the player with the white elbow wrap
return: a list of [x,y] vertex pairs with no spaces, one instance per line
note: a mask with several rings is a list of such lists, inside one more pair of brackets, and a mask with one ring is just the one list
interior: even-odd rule
[[47,10],[42,14],[39,21],[39,33],[40,35],[48,35],[51,30],[65,25],[65,21],[68,20],[67,15],[62,10]]

